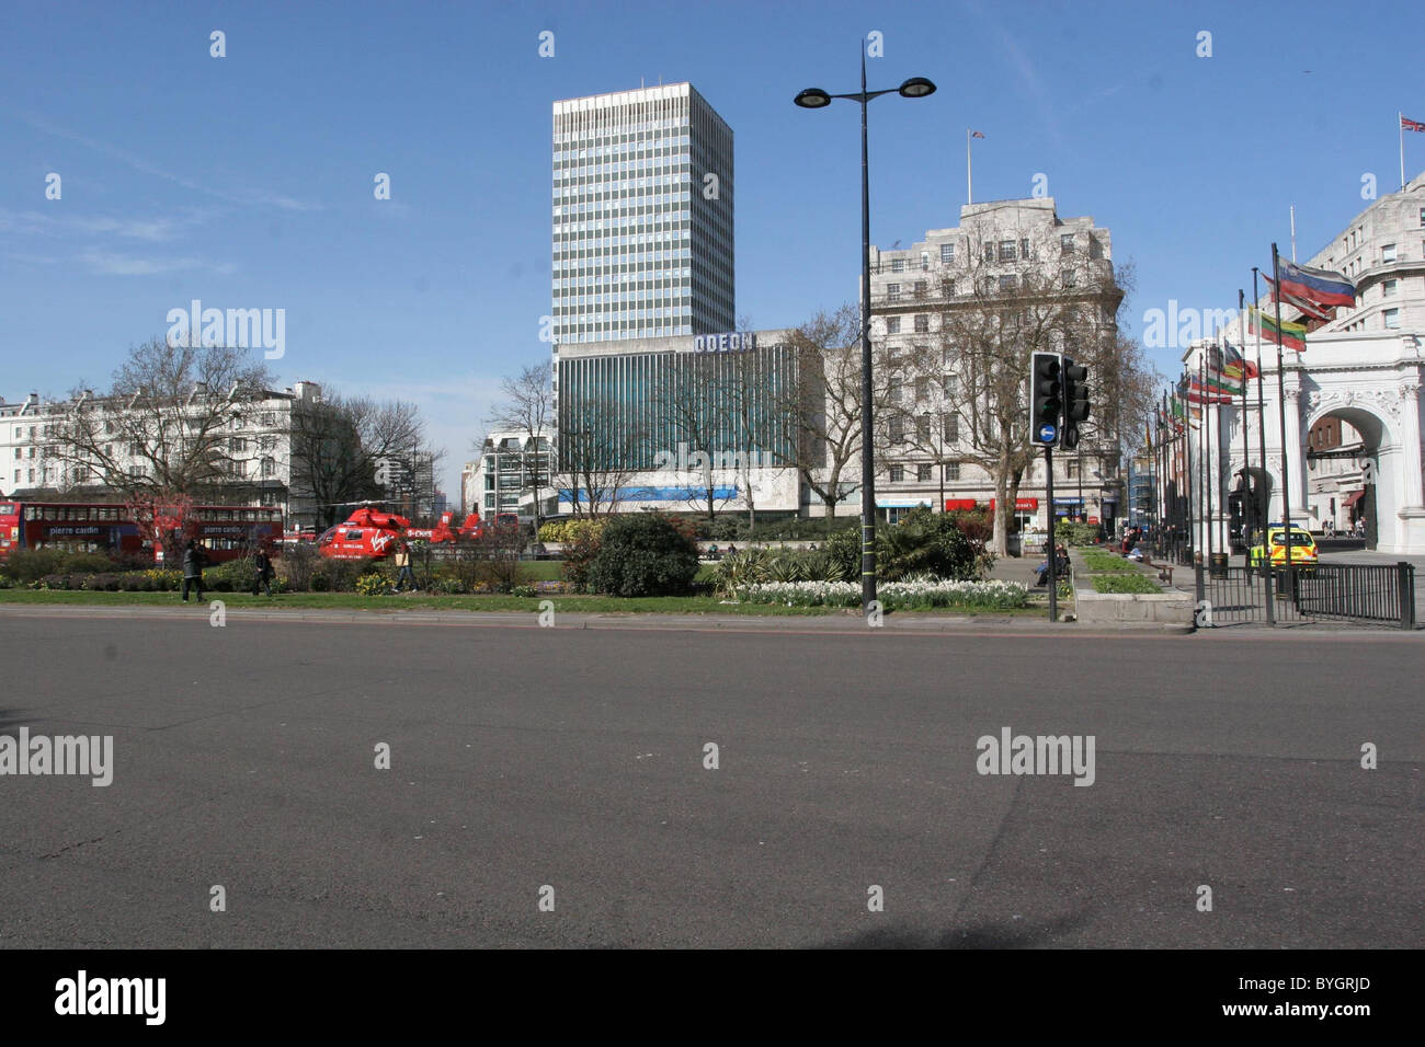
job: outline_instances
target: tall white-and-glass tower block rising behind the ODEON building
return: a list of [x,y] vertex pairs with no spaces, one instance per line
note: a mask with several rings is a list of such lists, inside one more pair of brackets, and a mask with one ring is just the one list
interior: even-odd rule
[[554,103],[559,345],[732,330],[732,131],[691,84]]

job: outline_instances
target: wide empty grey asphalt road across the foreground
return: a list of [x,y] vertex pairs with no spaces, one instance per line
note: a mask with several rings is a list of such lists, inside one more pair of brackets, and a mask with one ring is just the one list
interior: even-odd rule
[[1418,635],[737,628],[7,610],[0,946],[1422,942]]

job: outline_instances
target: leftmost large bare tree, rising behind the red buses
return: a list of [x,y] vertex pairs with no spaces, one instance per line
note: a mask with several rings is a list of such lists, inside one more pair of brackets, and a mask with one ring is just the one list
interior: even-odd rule
[[123,499],[219,500],[251,476],[255,423],[272,377],[245,349],[170,345],[130,350],[108,392],[76,389],[44,426],[44,459],[61,484]]

